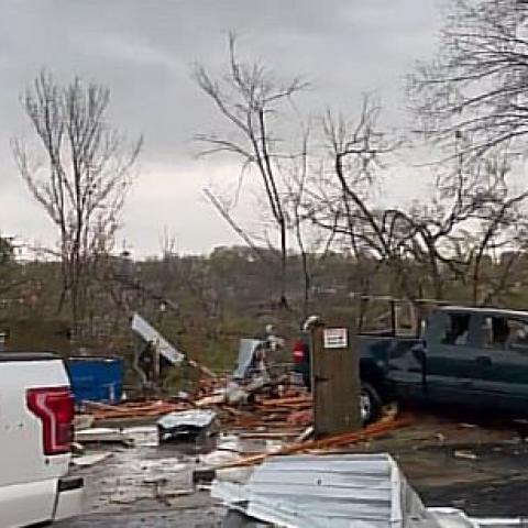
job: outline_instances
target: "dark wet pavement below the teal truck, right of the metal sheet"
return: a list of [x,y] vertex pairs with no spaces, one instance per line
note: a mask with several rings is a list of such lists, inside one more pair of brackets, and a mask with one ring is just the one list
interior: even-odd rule
[[475,517],[528,517],[527,437],[524,424],[421,416],[360,450],[391,452],[427,506]]

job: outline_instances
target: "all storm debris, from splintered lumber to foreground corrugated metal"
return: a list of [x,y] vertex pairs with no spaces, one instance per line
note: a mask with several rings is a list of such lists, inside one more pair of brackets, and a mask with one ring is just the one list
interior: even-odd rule
[[[152,328],[138,318],[135,322],[135,331],[154,344],[158,355],[170,356],[173,364],[184,361],[180,352],[161,341]],[[76,419],[77,442],[87,449],[101,443],[135,449],[106,447],[108,451],[77,457],[74,464],[82,471],[108,459],[109,464],[120,460],[129,463],[141,485],[129,490],[116,477],[110,498],[116,504],[154,498],[172,506],[170,501],[177,497],[211,490],[212,497],[228,507],[223,526],[522,526],[516,519],[474,519],[457,509],[426,508],[391,455],[352,454],[354,443],[365,442],[361,450],[367,449],[370,440],[414,421],[411,416],[398,415],[396,408],[360,431],[312,439],[311,395],[288,383],[280,369],[274,371],[266,364],[273,342],[271,338],[242,340],[239,361],[229,377],[216,376],[193,362],[202,377],[190,394],[118,405],[85,402],[86,414]],[[403,432],[408,436],[408,431]],[[175,449],[175,443],[189,440],[207,443],[208,450],[176,451],[182,446]],[[444,435],[433,435],[435,444],[446,441]],[[453,446],[453,459],[464,463],[477,459],[463,444]],[[153,447],[158,451],[153,453]],[[418,453],[415,448],[413,457]],[[173,454],[163,457],[167,453]],[[143,455],[140,461],[139,455]]]

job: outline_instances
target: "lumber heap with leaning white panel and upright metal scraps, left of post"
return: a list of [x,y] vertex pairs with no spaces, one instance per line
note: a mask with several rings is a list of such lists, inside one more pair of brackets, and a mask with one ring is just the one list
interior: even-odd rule
[[[196,418],[200,415],[198,409],[204,409],[206,414],[218,414],[222,427],[232,430],[251,428],[288,433],[311,424],[311,397],[299,388],[290,387],[289,369],[277,367],[276,353],[284,342],[273,334],[271,328],[266,328],[265,339],[240,340],[239,358],[229,377],[217,376],[197,362],[188,360],[138,314],[134,315],[132,329],[146,343],[152,358],[146,355],[150,364],[157,365],[156,372],[160,371],[161,356],[172,365],[185,361],[200,373],[200,382],[193,394],[180,393],[168,399],[143,398],[117,405],[82,400],[86,415],[78,422],[91,420],[97,426],[113,426],[129,421],[148,421],[176,413],[172,418],[165,418],[170,420],[186,416],[182,415],[185,411],[194,411]],[[143,350],[142,354],[145,353]],[[147,381],[145,378],[143,385]],[[160,394],[160,391],[150,394]],[[161,428],[165,429],[165,426],[161,424]]]

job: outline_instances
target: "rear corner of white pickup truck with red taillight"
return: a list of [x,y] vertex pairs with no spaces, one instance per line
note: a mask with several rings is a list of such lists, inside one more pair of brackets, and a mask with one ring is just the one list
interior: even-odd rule
[[68,477],[74,400],[63,361],[0,352],[0,527],[45,525],[80,512]]

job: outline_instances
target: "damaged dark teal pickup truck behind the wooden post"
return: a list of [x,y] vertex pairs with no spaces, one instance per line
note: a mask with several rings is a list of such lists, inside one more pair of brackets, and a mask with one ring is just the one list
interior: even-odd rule
[[[308,334],[294,349],[294,371],[311,385]],[[398,399],[528,414],[528,312],[446,306],[421,336],[358,334],[361,410],[377,418]]]

